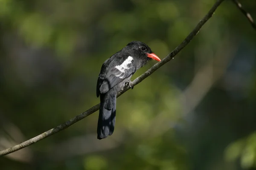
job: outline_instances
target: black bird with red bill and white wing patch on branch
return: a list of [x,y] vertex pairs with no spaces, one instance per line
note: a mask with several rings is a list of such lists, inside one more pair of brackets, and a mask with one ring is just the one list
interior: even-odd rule
[[100,96],[98,139],[106,138],[114,131],[117,92],[129,85],[131,76],[150,59],[161,61],[148,45],[132,41],[103,63],[96,90],[97,97]]

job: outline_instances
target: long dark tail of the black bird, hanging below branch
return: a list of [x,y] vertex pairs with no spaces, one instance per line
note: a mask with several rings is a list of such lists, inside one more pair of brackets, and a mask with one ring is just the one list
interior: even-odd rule
[[116,93],[112,90],[100,94],[100,108],[98,119],[98,139],[112,135],[116,121]]

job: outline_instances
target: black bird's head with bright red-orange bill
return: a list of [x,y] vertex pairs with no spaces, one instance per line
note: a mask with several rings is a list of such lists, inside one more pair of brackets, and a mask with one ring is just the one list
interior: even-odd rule
[[139,57],[139,59],[145,59],[146,61],[149,59],[161,61],[161,59],[151,51],[151,48],[143,42],[132,41],[129,42],[126,47],[131,50],[135,56]]

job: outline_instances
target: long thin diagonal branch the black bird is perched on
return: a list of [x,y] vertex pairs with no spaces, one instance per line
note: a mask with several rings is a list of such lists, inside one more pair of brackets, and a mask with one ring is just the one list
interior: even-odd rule
[[[144,74],[142,74],[140,77],[137,77],[137,79],[135,79],[133,82],[130,83],[131,86],[135,86],[137,84],[139,84],[140,82],[143,81],[143,79],[145,79],[146,77],[148,77],[149,75],[151,75],[152,73],[154,73],[154,71],[156,71],[158,68],[160,68],[161,66],[163,66],[164,64],[166,64],[167,62],[169,62],[171,59],[173,59],[173,57],[175,57],[176,54],[178,54],[194,37],[195,35],[198,33],[198,31],[200,30],[200,28],[209,20],[210,17],[212,17],[212,14],[214,13],[214,11],[218,8],[218,6],[223,2],[224,0],[218,0],[213,6],[212,8],[209,10],[209,12],[204,16],[204,18],[197,24],[197,26],[193,29],[193,31],[185,38],[185,40],[183,40],[183,42],[181,42],[181,44],[179,46],[177,46],[168,56],[166,56],[164,59],[162,59],[161,62],[158,62],[157,64],[153,65],[150,69],[148,69],[148,71],[146,71]],[[125,87],[124,89],[122,89],[122,91],[120,91],[117,96],[122,95],[123,93],[125,93],[126,91],[128,91],[129,88]],[[20,144],[15,145],[14,147],[10,147],[7,148],[5,150],[0,151],[0,156],[4,156],[7,155],[9,153],[13,153],[17,150],[20,150],[24,147],[27,147],[31,144],[34,144],[44,138],[47,138],[48,136],[51,136],[61,130],[66,129],[67,127],[73,125],[74,123],[78,122],[81,119],[84,119],[85,117],[89,116],[90,114],[96,112],[99,110],[99,104],[93,106],[92,108],[90,108],[89,110],[85,111],[84,113],[81,113],[77,116],[75,116],[74,118],[70,119],[69,121],[58,125],[57,127],[50,129],[38,136],[35,136],[32,139],[29,139],[25,142],[22,142]]]

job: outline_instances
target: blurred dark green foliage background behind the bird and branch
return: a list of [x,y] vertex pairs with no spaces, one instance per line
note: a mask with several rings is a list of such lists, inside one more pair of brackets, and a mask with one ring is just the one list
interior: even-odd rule
[[[132,40],[169,54],[215,0],[0,0],[0,149],[99,103],[102,63]],[[242,1],[256,19],[256,1]],[[135,79],[156,63],[150,62]],[[256,31],[230,0],[171,62],[98,111],[0,157],[0,170],[254,170]]]

